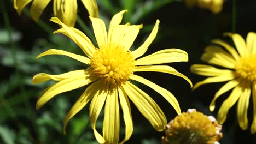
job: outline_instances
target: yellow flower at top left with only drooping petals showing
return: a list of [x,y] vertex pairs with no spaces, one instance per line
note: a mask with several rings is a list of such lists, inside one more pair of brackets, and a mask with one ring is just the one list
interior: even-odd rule
[[[38,21],[50,0],[14,0],[14,8],[18,14],[28,3],[33,1],[30,13],[34,21]],[[81,0],[91,17],[98,17],[96,0]],[[77,19],[77,0],[54,0],[53,13],[67,26],[73,27]]]

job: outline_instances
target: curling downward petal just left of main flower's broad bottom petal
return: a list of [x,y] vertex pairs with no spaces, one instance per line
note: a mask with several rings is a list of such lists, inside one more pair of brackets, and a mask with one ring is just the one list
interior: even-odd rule
[[96,130],[96,121],[97,121],[98,115],[100,115],[101,109],[108,95],[109,83],[107,83],[107,85],[104,86],[104,82],[101,81],[97,86],[97,88],[99,88],[100,92],[98,95],[95,95],[94,98],[92,98],[91,100],[89,117],[90,117],[91,127],[94,130],[94,135],[96,137],[96,140],[99,143],[104,143],[105,140],[103,136],[100,133],[98,133],[98,131]]

